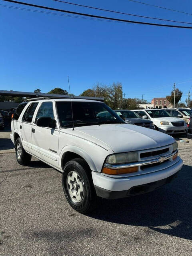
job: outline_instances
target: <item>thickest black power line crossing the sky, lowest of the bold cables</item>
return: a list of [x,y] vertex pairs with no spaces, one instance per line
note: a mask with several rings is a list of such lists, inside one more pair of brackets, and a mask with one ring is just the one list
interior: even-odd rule
[[145,25],[151,25],[151,26],[162,26],[162,27],[170,27],[170,28],[190,28],[190,29],[192,29],[192,27],[189,27],[189,26],[175,26],[175,25],[165,25],[165,24],[156,24],[156,23],[148,23],[148,22],[139,22],[139,21],[134,21],[134,20],[123,20],[123,19],[118,19],[118,18],[97,16],[97,15],[85,14],[85,13],[80,13],[80,12],[72,12],[72,11],[67,11],[67,10],[62,10],[62,9],[40,6],[40,5],[36,5],[36,4],[28,4],[28,3],[14,1],[14,0],[3,0],[3,1],[12,2],[12,3],[16,3],[16,4],[23,4],[23,5],[27,5],[27,6],[33,6],[33,7],[47,9],[47,10],[53,10],[53,11],[57,11],[57,12],[65,12],[65,13],[77,14],[77,15],[81,15],[81,16],[88,16],[88,17],[92,17],[92,18],[100,18],[100,19],[106,19],[106,20],[116,20],[116,21],[121,21],[121,22],[128,22],[128,23],[134,23],[134,24],[145,24]]

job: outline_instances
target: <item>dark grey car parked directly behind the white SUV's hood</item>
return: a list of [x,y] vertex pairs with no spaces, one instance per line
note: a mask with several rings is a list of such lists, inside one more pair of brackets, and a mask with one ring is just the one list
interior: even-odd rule
[[138,114],[131,110],[114,110],[127,124],[134,124],[146,128],[154,129],[154,124],[151,120],[143,119]]

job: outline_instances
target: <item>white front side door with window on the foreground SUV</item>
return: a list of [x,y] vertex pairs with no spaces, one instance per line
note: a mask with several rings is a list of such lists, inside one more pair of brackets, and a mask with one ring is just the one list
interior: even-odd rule
[[37,119],[50,117],[54,119],[53,102],[42,102],[32,124],[32,154],[44,162],[58,167],[59,158],[59,130],[56,128],[40,127],[36,125]]

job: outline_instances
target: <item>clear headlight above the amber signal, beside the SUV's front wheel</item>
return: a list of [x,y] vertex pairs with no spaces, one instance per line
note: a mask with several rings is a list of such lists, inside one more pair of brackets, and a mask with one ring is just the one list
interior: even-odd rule
[[107,164],[124,164],[138,161],[137,152],[114,154],[107,158]]

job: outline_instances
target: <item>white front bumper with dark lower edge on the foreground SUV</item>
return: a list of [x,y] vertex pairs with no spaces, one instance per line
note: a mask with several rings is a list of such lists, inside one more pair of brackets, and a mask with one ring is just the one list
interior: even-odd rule
[[178,157],[176,164],[160,171],[126,178],[112,178],[100,172],[92,172],[93,184],[98,196],[116,199],[150,192],[167,182],[181,170],[183,161]]

